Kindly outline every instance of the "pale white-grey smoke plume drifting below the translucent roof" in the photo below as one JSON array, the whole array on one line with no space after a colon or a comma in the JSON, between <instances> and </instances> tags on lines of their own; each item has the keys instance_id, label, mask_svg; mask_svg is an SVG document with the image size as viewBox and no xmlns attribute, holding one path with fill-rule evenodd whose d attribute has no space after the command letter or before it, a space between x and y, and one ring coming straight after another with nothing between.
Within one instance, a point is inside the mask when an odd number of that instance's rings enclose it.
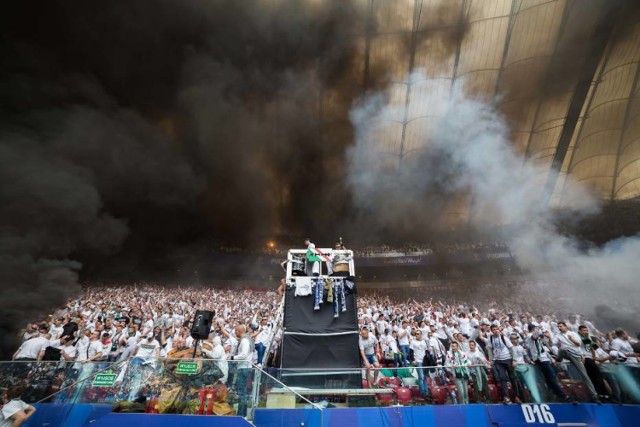
<instances>
[{"instance_id":1,"label":"pale white-grey smoke plume drifting below the translucent roof","mask_svg":"<svg viewBox=\"0 0 640 427\"><path fill-rule=\"evenodd\" d=\"M518 264L536 277L566 285L572 308L586 311L612 299L637 303L640 238L581 249L581 242L561 235L554 225L556 212L542 194L548 166L525 161L513 149L507 122L492 105L468 96L464 84L443 90L442 83L420 72L409 82L411 104L417 107L408 113L393 87L352 110L356 141L348 152L348 185L359 209L383 227L397 226L416 212L433 216L424 221L438 221L447 213L442 206L434 209L434 200L466 194L475 227L503 224L508 233L501 238ZM401 147L406 122L410 137ZM569 180L563 200L563 208L575 216L598 210L588 189Z\"/></svg>"}]
</instances>

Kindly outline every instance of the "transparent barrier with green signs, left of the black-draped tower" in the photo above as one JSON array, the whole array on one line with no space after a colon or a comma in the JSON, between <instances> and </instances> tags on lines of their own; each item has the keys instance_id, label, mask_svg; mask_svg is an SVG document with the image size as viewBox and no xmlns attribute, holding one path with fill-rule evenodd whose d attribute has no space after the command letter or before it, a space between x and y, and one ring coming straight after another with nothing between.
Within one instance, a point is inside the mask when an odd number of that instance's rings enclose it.
<instances>
[{"instance_id":1,"label":"transparent barrier with green signs, left of the black-draped tower","mask_svg":"<svg viewBox=\"0 0 640 427\"><path fill-rule=\"evenodd\" d=\"M107 413L252 419L257 406L266 406L272 388L286 390L311 410L309 417L321 418L311 401L248 362L1 362L0 387L22 387L21 398L37 405L30 425L88 425Z\"/></svg>"}]
</instances>

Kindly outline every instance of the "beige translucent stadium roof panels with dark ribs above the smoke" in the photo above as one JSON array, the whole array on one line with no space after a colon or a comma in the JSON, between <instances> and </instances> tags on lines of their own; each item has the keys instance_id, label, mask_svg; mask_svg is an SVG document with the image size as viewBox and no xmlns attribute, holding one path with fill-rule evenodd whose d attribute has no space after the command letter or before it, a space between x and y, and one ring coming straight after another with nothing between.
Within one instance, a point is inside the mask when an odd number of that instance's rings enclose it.
<instances>
[{"instance_id":1,"label":"beige translucent stadium roof panels with dark ribs above the smoke","mask_svg":"<svg viewBox=\"0 0 640 427\"><path fill-rule=\"evenodd\" d=\"M505 115L526 161L550 172L562 200L566 176L603 200L640 196L640 20L633 1L362 0L362 79L384 67L406 120L384 136L410 155L424 105L412 104L410 70L429 90L465 90ZM413 88L420 90L420 88ZM402 152L400 152L402 151Z\"/></svg>"}]
</instances>

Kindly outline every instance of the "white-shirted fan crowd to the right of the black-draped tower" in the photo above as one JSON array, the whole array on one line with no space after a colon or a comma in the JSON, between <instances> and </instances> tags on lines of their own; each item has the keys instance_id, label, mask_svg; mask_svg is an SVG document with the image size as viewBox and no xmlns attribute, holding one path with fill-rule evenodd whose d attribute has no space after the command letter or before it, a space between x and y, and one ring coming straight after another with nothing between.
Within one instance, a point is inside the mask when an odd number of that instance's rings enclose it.
<instances>
[{"instance_id":1,"label":"white-shirted fan crowd to the right of the black-draped tower","mask_svg":"<svg viewBox=\"0 0 640 427\"><path fill-rule=\"evenodd\" d=\"M482 397L492 376L505 403L511 401L510 386L517 401L539 402L539 387L530 370L534 367L558 400L571 401L558 381L556 364L562 360L567 362L562 366L585 385L591 401L621 401L623 395L624 400L640 399L640 348L622 328L602 332L580 315L560 316L541 311L540 305L527 304L525 309L508 302L490 301L479 309L428 298L397 302L374 294L361 296L359 306L365 366L425 367L416 371L420 393L427 400L432 398L429 375L446 383L444 371L435 367L449 366L462 403L469 403L470 381L476 396ZM612 370L613 365L632 369ZM619 378L620 373L626 377ZM375 380L374 372L372 383Z\"/></svg>"}]
</instances>

